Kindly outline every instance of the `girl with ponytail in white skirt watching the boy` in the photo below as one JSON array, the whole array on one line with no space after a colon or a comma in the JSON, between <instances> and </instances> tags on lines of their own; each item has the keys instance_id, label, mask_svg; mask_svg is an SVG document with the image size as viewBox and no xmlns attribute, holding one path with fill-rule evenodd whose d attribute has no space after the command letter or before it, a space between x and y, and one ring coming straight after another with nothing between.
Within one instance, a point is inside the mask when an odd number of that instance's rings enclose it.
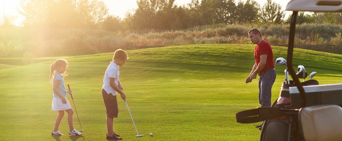
<instances>
[{"instance_id":1,"label":"girl with ponytail in white skirt watching the boy","mask_svg":"<svg viewBox=\"0 0 342 141\"><path fill-rule=\"evenodd\" d=\"M51 64L51 71L50 71L50 83L53 86L53 99L52 99L52 111L58 111L58 116L55 122L55 128L52 131L52 136L63 135L60 131L58 131L58 126L62 121L64 116L64 111L68 113L68 123L69 123L69 135L79 136L82 135L81 132L74 129L73 126L73 109L71 109L71 105L66 99L66 94L73 94L72 90L65 90L65 84L63 77L66 76L66 68L68 62L64 59L57 59L54 63ZM64 76L63 76L63 75Z\"/></svg>"}]
</instances>

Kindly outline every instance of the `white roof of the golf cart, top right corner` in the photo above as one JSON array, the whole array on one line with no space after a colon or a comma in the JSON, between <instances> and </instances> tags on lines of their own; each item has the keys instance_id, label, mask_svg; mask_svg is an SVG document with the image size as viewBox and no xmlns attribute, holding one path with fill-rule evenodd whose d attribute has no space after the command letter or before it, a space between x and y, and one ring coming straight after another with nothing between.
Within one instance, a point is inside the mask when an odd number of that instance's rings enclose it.
<instances>
[{"instance_id":1,"label":"white roof of the golf cart, top right corner","mask_svg":"<svg viewBox=\"0 0 342 141\"><path fill-rule=\"evenodd\" d=\"M290 0L285 10L309 12L342 12L342 0Z\"/></svg>"}]
</instances>

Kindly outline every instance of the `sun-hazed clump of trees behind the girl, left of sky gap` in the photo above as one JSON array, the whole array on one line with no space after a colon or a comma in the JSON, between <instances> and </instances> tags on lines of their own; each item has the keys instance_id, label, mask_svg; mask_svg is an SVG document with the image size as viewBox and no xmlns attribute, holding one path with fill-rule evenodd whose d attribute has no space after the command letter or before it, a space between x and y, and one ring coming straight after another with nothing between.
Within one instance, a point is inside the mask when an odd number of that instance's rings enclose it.
<instances>
[{"instance_id":1,"label":"sun-hazed clump of trees behind the girl, left of sky gap","mask_svg":"<svg viewBox=\"0 0 342 141\"><path fill-rule=\"evenodd\" d=\"M26 25L50 28L77 28L96 25L105 19L108 8L98 0L22 0L19 13Z\"/></svg>"}]
</instances>

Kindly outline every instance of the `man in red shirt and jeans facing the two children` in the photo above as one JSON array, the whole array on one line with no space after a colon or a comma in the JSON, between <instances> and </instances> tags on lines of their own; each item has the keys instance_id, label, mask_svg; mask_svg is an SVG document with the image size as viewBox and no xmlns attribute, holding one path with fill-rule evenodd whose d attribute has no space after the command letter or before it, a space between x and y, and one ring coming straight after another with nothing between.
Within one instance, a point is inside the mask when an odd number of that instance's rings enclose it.
<instances>
[{"instance_id":1,"label":"man in red shirt and jeans facing the two children","mask_svg":"<svg viewBox=\"0 0 342 141\"><path fill-rule=\"evenodd\" d=\"M250 30L248 37L257 45L254 49L255 64L245 83L252 82L259 74L259 103L261 107L271 107L271 91L277 75L274 69L273 51L271 45L262 39L258 29ZM255 127L261 130L262 124Z\"/></svg>"}]
</instances>

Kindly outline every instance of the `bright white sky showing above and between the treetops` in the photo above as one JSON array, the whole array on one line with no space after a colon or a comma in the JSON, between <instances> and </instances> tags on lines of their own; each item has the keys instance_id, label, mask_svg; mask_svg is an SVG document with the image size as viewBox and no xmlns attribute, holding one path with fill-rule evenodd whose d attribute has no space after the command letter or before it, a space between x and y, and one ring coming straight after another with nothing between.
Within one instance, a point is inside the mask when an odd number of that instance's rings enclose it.
<instances>
[{"instance_id":1,"label":"bright white sky showing above and between the treetops","mask_svg":"<svg viewBox=\"0 0 342 141\"><path fill-rule=\"evenodd\" d=\"M21 16L17 9L20 8L19 3L21 0L0 0L0 18L3 19L3 16L10 16L15 18L14 25L20 26L24 20L24 17ZM136 0L100 0L104 1L107 5L109 11L109 15L119 16L120 18L124 18L127 11L133 11L133 9L137 8ZM175 0L176 5L184 5L189 3L191 0ZM246 0L242 0L246 1ZM261 6L264 5L266 0L255 0ZM289 0L273 0L274 2L280 4L282 9L285 10L285 7ZM237 0L236 0L237 2ZM287 18L291 12L287 11L285 18Z\"/></svg>"}]
</instances>

